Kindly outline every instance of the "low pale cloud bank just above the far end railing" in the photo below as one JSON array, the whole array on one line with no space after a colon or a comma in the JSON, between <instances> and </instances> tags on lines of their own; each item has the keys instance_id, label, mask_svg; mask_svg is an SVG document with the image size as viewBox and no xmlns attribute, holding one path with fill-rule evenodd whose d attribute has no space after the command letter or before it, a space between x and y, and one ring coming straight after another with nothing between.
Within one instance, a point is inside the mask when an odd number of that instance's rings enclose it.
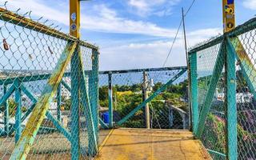
<instances>
[{"instance_id":1,"label":"low pale cloud bank just above the far end railing","mask_svg":"<svg viewBox=\"0 0 256 160\"><path fill-rule=\"evenodd\" d=\"M188 47L203 42L221 33L220 28L190 31L187 34ZM100 70L162 67L172 42L154 41L110 46L101 50ZM111 64L111 65L110 65ZM174 43L174 48L166 66L186 66L186 55L182 35Z\"/></svg>"}]
</instances>

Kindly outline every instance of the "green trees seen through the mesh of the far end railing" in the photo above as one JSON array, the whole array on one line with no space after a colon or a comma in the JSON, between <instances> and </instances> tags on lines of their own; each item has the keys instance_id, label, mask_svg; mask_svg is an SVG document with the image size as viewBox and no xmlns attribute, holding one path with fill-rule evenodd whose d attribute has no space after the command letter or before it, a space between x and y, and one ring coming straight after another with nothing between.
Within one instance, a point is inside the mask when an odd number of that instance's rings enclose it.
<instances>
[{"instance_id":1,"label":"green trees seen through the mesh of the far end railing","mask_svg":"<svg viewBox=\"0 0 256 160\"><path fill-rule=\"evenodd\" d=\"M154 91L158 90L162 85L161 82L155 83L153 91L150 94L153 94ZM114 110L120 118L129 114L131 110L134 110L135 107L142 103L142 84L134 84L131 86L115 85L112 90L114 96ZM162 91L161 94L154 98L151 102L152 106L150 106L151 110L156 110L152 124L154 127L159 127L159 125L161 128L167 127L166 122L168 122L169 110L164 106L162 100L167 100L174 106L182 107L183 110L186 109L187 104L181 100L181 98L186 97L186 90L187 81L168 86L166 90ZM108 86L99 87L99 104L102 107L108 107ZM129 118L122 126L144 128L144 117L144 109L138 110L138 112ZM160 121L157 123L156 119ZM182 120L178 119L178 121Z\"/></svg>"}]
</instances>

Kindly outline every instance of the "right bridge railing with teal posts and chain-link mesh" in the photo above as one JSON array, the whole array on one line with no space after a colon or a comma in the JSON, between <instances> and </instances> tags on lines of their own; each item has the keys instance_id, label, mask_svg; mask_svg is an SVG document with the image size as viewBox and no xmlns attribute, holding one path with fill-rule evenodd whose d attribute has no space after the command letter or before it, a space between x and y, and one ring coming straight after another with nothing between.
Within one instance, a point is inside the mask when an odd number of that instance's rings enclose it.
<instances>
[{"instance_id":1,"label":"right bridge railing with teal posts and chain-link mesh","mask_svg":"<svg viewBox=\"0 0 256 160\"><path fill-rule=\"evenodd\" d=\"M194 134L214 159L256 158L256 18L189 52Z\"/></svg>"}]
</instances>

